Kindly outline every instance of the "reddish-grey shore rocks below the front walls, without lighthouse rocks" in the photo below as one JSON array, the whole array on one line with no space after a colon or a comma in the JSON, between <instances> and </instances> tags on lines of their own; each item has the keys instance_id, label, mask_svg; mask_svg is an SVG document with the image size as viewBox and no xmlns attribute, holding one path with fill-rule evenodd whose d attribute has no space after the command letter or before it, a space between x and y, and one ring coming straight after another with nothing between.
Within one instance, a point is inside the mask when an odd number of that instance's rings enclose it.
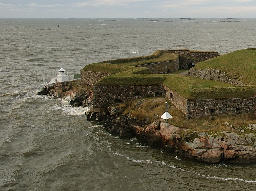
<instances>
[{"instance_id":1,"label":"reddish-grey shore rocks below the front walls, without lighthouse rocks","mask_svg":"<svg viewBox=\"0 0 256 191\"><path fill-rule=\"evenodd\" d=\"M236 132L199 133L169 125L165 121L139 121L123 116L122 108L108 107L106 111L90 111L88 121L102 124L107 131L120 138L135 136L140 143L152 148L160 147L184 158L209 164L249 165L256 163L256 134L240 135ZM251 129L256 128L252 124Z\"/></svg>"}]
</instances>

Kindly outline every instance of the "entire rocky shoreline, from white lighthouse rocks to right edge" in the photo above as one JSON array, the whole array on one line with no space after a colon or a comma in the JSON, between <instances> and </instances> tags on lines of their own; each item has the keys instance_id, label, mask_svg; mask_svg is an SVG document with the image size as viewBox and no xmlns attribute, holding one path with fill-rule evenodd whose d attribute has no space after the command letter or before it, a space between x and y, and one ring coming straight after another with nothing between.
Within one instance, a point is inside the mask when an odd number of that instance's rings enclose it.
<instances>
[{"instance_id":1,"label":"entire rocky shoreline, from white lighthouse rocks to right edge","mask_svg":"<svg viewBox=\"0 0 256 191\"><path fill-rule=\"evenodd\" d=\"M42 88L39 95L49 98L70 96L72 107L93 105L93 90L82 87L79 81L49 84ZM124 115L124 108L92 108L87 113L87 120L103 125L106 130L120 138L136 137L137 141L152 148L163 148L166 152L179 157L190 158L209 164L225 162L227 164L249 165L256 163L256 124L244 129L235 129L228 123L230 131L197 133L186 128L169 125L166 121L150 122L138 120L129 114ZM239 131L239 132L234 132ZM242 133L241 133L242 132Z\"/></svg>"}]
</instances>

